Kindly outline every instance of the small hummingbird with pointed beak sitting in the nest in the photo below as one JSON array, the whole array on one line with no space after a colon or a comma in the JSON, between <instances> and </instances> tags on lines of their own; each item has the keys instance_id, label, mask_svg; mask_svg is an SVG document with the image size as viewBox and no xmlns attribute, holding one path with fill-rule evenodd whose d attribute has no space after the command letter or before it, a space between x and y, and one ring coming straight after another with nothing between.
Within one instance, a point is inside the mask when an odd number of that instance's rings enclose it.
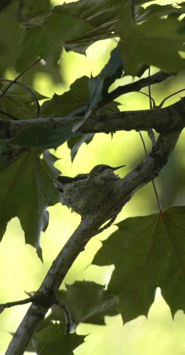
<instances>
[{"instance_id":1,"label":"small hummingbird with pointed beak sitting in the nest","mask_svg":"<svg viewBox=\"0 0 185 355\"><path fill-rule=\"evenodd\" d=\"M66 184L72 184L74 182L77 182L79 180L84 180L87 179L88 177L90 178L94 178L95 176L100 176L103 175L107 172L112 172L114 173L115 170L120 169L125 167L126 165L121 165L119 167L113 168L110 167L109 165L104 165L104 164L100 164L100 165L96 165L89 173L87 174L78 174L75 177L69 177L69 176L58 176L55 180L54 180L54 185L56 186L57 190L60 192L63 192L63 185Z\"/></svg>"}]
</instances>

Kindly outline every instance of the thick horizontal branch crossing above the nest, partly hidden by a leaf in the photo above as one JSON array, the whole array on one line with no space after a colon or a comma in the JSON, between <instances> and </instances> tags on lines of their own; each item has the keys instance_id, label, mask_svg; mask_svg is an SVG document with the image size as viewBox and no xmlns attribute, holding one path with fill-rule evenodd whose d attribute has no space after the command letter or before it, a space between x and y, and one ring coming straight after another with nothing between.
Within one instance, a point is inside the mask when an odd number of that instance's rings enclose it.
<instances>
[{"instance_id":1,"label":"thick horizontal branch crossing above the nest, partly hidden by a leaf","mask_svg":"<svg viewBox=\"0 0 185 355\"><path fill-rule=\"evenodd\" d=\"M39 125L50 130L67 127L77 118L37 118L23 121L0 121L0 139L13 138L22 128ZM123 111L90 116L74 135L115 131L146 131L153 128L165 133L185 127L185 98L165 108Z\"/></svg>"}]
</instances>

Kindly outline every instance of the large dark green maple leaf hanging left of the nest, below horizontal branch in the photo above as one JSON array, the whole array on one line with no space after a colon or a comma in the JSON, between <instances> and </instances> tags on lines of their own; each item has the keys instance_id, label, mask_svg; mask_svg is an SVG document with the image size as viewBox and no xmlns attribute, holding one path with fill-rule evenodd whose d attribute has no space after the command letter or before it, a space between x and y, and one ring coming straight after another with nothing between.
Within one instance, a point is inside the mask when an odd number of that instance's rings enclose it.
<instances>
[{"instance_id":1,"label":"large dark green maple leaf hanging left of the nest, below horizontal branch","mask_svg":"<svg viewBox=\"0 0 185 355\"><path fill-rule=\"evenodd\" d=\"M0 240L7 223L18 217L26 243L36 248L42 260L40 233L48 226L47 207L60 201L53 184L60 171L53 166L54 155L45 151L41 159L39 154L31 150L0 169Z\"/></svg>"}]
</instances>

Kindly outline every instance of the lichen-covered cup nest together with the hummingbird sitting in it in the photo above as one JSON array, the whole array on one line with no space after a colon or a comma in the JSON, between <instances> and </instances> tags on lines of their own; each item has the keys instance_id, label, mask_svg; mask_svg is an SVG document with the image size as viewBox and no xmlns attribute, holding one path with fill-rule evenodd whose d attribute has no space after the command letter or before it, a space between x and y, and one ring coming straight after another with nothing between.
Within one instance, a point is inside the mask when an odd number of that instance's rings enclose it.
<instances>
[{"instance_id":1,"label":"lichen-covered cup nest together with the hummingbird sitting in it","mask_svg":"<svg viewBox=\"0 0 185 355\"><path fill-rule=\"evenodd\" d=\"M98 213L100 209L107 209L114 196L115 183L120 180L114 171L124 166L112 168L102 164L88 174L79 174L74 178L58 176L54 185L60 191L62 204L66 204L82 218ZM107 213L107 216L112 216L115 212L110 208Z\"/></svg>"}]
</instances>

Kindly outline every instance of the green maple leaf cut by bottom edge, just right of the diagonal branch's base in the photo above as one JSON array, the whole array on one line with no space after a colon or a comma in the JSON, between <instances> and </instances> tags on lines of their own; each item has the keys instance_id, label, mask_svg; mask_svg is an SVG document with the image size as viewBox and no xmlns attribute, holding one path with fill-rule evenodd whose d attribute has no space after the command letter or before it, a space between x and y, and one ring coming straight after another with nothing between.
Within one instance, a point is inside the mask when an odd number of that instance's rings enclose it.
<instances>
[{"instance_id":1,"label":"green maple leaf cut by bottom edge, just right of the diagonal branch's base","mask_svg":"<svg viewBox=\"0 0 185 355\"><path fill-rule=\"evenodd\" d=\"M33 346L38 355L74 355L73 350L83 344L85 336L64 335L57 323L34 335Z\"/></svg>"}]
</instances>

